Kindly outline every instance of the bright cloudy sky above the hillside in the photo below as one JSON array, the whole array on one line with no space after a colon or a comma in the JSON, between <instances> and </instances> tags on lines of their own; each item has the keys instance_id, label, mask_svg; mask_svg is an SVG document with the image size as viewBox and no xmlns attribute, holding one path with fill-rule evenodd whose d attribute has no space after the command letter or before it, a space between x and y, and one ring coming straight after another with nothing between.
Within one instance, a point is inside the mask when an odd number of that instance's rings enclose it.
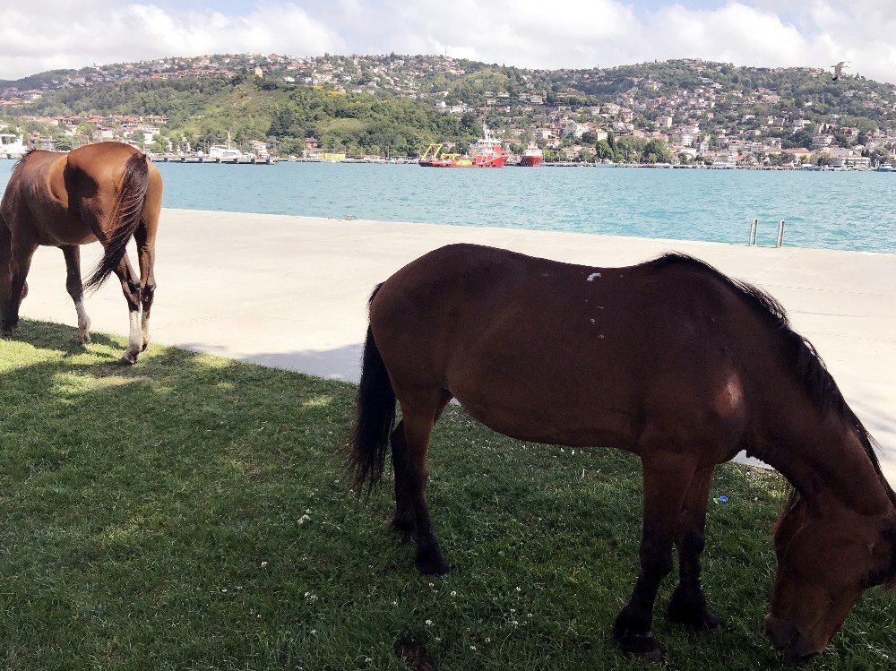
<instances>
[{"instance_id":1,"label":"bright cloudy sky above the hillside","mask_svg":"<svg viewBox=\"0 0 896 671\"><path fill-rule=\"evenodd\" d=\"M534 68L695 57L896 83L896 0L28 0L0 79L212 53L447 54Z\"/></svg>"}]
</instances>

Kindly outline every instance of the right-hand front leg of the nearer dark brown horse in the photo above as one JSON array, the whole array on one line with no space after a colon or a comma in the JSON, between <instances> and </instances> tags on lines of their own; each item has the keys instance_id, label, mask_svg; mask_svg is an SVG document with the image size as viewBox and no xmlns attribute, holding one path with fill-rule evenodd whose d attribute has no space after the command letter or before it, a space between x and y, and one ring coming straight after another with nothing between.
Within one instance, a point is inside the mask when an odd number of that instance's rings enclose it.
<instances>
[{"instance_id":1,"label":"right-hand front leg of the nearer dark brown horse","mask_svg":"<svg viewBox=\"0 0 896 671\"><path fill-rule=\"evenodd\" d=\"M706 606L700 582L700 554L703 551L706 504L714 466L698 470L685 497L676 534L678 548L678 586L669 599L669 620L695 632L719 629L719 618Z\"/></svg>"}]
</instances>

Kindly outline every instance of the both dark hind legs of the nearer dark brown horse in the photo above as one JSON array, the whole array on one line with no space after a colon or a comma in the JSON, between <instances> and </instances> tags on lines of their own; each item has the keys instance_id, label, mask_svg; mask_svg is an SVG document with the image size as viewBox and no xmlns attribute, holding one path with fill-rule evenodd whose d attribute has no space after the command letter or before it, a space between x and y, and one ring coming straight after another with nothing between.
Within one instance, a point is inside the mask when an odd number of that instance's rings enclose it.
<instances>
[{"instance_id":1,"label":"both dark hind legs of the nearer dark brown horse","mask_svg":"<svg viewBox=\"0 0 896 671\"><path fill-rule=\"evenodd\" d=\"M444 390L435 391L432 395L427 393L422 402L420 399L400 397L403 442L397 440L392 443L393 449L398 445L401 453L398 458L393 456L393 463L399 464L395 470L397 519L407 520L408 507L413 510L417 532L416 563L424 575L444 575L448 572L448 564L435 538L429 505L426 503L426 452L435 419L451 398L449 395L445 399L445 393Z\"/></svg>"}]
</instances>

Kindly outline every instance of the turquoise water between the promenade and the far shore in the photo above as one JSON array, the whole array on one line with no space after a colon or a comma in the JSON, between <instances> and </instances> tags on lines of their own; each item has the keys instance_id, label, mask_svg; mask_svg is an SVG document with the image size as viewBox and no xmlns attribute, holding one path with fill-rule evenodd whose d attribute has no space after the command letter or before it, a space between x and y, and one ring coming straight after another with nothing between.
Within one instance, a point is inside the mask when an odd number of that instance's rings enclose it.
<instances>
[{"instance_id":1,"label":"turquoise water between the promenade and the far shore","mask_svg":"<svg viewBox=\"0 0 896 671\"><path fill-rule=\"evenodd\" d=\"M159 163L165 206L896 253L896 174ZM0 185L13 161L0 160Z\"/></svg>"}]
</instances>

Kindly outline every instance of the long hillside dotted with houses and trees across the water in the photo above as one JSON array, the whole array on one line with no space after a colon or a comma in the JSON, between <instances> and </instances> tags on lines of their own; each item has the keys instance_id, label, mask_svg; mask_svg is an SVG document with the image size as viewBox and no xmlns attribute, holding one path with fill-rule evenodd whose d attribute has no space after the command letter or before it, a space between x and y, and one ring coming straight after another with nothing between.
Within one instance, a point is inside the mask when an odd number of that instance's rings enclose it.
<instances>
[{"instance_id":1,"label":"long hillside dotted with houses and trees across the water","mask_svg":"<svg viewBox=\"0 0 896 671\"><path fill-rule=\"evenodd\" d=\"M656 140L682 159L829 147L883 159L896 147L890 84L696 59L545 71L446 56L219 55L54 71L0 89L13 120L167 116L163 139L229 132L284 151L306 137L354 153L413 155L436 140L462 149L482 120L516 146L599 157L599 142L628 135L638 152Z\"/></svg>"}]
</instances>

